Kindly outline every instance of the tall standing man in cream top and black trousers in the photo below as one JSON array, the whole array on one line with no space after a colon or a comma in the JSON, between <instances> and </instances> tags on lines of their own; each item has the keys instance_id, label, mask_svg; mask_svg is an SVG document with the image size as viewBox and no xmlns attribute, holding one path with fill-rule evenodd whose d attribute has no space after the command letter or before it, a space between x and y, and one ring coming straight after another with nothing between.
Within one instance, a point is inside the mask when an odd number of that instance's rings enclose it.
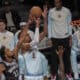
<instances>
[{"instance_id":1,"label":"tall standing man in cream top and black trousers","mask_svg":"<svg viewBox=\"0 0 80 80\"><path fill-rule=\"evenodd\" d=\"M52 40L52 64L51 74L52 80L56 79L58 70L58 55L56 49L58 46L65 48L63 61L65 73L68 80L71 80L71 65L70 65L70 49L71 49L71 12L68 8L62 6L62 0L54 0L55 7L49 10L48 15L48 37Z\"/></svg>"}]
</instances>

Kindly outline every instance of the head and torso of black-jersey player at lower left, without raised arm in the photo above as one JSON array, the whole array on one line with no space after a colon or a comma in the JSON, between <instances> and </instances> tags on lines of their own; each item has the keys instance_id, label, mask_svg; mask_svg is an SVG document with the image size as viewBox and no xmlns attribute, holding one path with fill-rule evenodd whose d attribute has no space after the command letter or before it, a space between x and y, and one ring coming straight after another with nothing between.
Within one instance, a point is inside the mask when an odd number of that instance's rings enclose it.
<instances>
[{"instance_id":1,"label":"head and torso of black-jersey player at lower left, without raised arm","mask_svg":"<svg viewBox=\"0 0 80 80\"><path fill-rule=\"evenodd\" d=\"M13 58L14 56L10 49L6 47L1 47L0 56L2 58L2 63L5 67L5 72L3 74L6 80L18 80L18 63L16 59Z\"/></svg>"}]
</instances>

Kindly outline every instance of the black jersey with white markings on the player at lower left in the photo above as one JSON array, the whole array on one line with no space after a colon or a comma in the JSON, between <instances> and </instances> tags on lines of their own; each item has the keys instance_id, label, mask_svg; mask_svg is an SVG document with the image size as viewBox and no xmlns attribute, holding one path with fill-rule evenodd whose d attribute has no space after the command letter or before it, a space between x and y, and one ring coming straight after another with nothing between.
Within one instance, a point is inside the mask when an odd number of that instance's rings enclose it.
<instances>
[{"instance_id":1,"label":"black jersey with white markings on the player at lower left","mask_svg":"<svg viewBox=\"0 0 80 80\"><path fill-rule=\"evenodd\" d=\"M11 63L3 61L6 66L5 77L6 80L18 80L19 70L18 63L16 60L13 60Z\"/></svg>"}]
</instances>

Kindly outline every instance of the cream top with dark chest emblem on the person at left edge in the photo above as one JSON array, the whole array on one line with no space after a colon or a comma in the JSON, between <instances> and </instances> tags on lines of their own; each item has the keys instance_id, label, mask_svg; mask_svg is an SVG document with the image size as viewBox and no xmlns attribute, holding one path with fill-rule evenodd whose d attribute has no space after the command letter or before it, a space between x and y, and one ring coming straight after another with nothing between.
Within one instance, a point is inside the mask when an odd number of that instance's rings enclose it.
<instances>
[{"instance_id":1,"label":"cream top with dark chest emblem on the person at left edge","mask_svg":"<svg viewBox=\"0 0 80 80\"><path fill-rule=\"evenodd\" d=\"M5 46L11 50L14 49L14 35L9 31L0 32L0 47Z\"/></svg>"}]
</instances>

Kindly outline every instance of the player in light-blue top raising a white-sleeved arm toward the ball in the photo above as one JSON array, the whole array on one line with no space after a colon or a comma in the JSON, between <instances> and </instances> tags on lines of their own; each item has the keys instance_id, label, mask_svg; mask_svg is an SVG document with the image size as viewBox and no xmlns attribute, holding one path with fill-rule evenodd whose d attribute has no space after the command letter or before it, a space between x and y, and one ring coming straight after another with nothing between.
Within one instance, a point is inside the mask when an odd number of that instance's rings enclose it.
<instances>
[{"instance_id":1,"label":"player in light-blue top raising a white-sleeved arm toward the ball","mask_svg":"<svg viewBox=\"0 0 80 80\"><path fill-rule=\"evenodd\" d=\"M20 79L24 75L24 80L44 80L47 76L47 60L37 49L37 44L41 40L39 38L40 19L37 18L34 21L36 22L34 40L31 41L30 35L27 34L21 47L21 54L18 55ZM22 36L24 35L20 37Z\"/></svg>"}]
</instances>

